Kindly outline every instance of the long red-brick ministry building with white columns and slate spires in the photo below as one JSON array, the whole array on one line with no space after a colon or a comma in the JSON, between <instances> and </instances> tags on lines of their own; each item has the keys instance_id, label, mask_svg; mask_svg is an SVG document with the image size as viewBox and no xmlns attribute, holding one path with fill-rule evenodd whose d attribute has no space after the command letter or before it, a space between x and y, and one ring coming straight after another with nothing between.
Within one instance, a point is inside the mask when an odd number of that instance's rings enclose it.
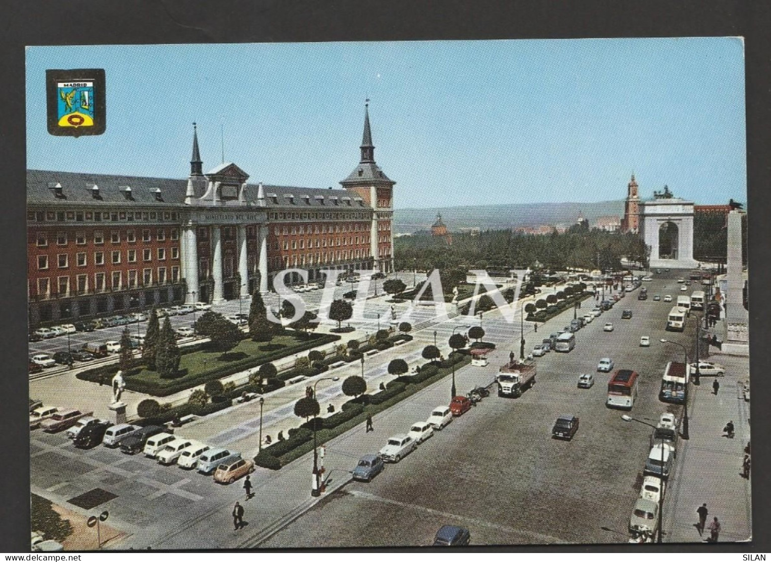
<instances>
[{"instance_id":1,"label":"long red-brick ministry building with white columns and slate spires","mask_svg":"<svg viewBox=\"0 0 771 562\"><path fill-rule=\"evenodd\" d=\"M28 170L30 324L237 299L289 268L392 271L395 182L366 106L360 151L342 189L254 185L232 162L204 173L195 129L188 179Z\"/></svg>"}]
</instances>

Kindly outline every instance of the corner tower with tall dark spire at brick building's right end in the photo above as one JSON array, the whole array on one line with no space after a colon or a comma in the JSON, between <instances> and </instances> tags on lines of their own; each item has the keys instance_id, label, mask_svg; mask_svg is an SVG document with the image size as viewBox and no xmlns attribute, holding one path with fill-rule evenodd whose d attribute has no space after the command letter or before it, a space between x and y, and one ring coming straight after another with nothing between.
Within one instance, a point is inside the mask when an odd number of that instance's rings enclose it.
<instances>
[{"instance_id":1,"label":"corner tower with tall dark spire at brick building's right end","mask_svg":"<svg viewBox=\"0 0 771 562\"><path fill-rule=\"evenodd\" d=\"M385 176L375 162L375 145L372 144L372 128L369 125L369 99L364 105L364 134L359 165L340 184L360 197L372 208L369 232L372 268L379 271L393 270L393 186L396 182Z\"/></svg>"}]
</instances>

